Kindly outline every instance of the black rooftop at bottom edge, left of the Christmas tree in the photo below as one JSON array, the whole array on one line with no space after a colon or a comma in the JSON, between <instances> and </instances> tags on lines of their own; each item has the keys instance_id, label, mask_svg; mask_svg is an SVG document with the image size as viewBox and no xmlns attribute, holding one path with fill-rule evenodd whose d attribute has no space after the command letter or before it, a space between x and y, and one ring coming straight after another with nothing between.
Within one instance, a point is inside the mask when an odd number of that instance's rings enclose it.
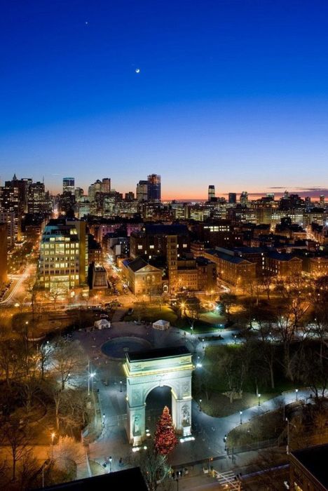
<instances>
[{"instance_id":1,"label":"black rooftop at bottom edge, left of the Christmas tree","mask_svg":"<svg viewBox=\"0 0 328 491\"><path fill-rule=\"evenodd\" d=\"M126 469L125 471L111 472L93 478L72 480L69 483L56 484L54 486L43 487L42 489L67 491L114 491L133 489L137 491L148 491L139 467Z\"/></svg>"}]
</instances>

